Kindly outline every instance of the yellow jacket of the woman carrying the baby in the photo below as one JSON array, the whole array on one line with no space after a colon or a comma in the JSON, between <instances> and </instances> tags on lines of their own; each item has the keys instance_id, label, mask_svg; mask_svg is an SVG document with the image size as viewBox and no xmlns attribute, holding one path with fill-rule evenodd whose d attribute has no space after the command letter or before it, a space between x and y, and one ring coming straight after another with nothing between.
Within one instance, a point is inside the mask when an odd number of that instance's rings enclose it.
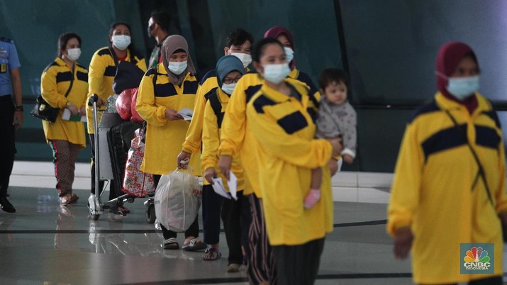
<instances>
[{"instance_id":1,"label":"yellow jacket of the woman carrying the baby","mask_svg":"<svg viewBox=\"0 0 507 285\"><path fill-rule=\"evenodd\" d=\"M314 139L316 125L308 109L317 108L308 88L285 80L301 101L262 85L247 104L247 121L258 148L258 169L267 235L271 245L302 245L333 230L333 197L327 162L333 148ZM323 168L321 201L309 210L303 201L310 190L311 169Z\"/></svg>"}]
</instances>

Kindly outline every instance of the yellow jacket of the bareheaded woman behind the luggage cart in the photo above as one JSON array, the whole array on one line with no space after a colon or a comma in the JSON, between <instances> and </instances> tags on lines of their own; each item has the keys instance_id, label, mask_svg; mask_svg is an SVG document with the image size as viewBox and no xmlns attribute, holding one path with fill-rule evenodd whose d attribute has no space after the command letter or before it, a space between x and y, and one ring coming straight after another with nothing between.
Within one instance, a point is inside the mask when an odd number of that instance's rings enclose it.
<instances>
[{"instance_id":1,"label":"yellow jacket of the bareheaded woman behind the luggage cart","mask_svg":"<svg viewBox=\"0 0 507 285\"><path fill-rule=\"evenodd\" d=\"M143 72L146 72L146 62L144 57L140 55L131 55L130 50L127 50L126 61L132 62L137 65ZM91 57L89 67L89 89L88 98L92 94L99 95L99 98L107 103L109 96L114 94L113 91L113 80L116 74L116 65L114 64L113 55L109 52L108 47L102 47L97 50ZM106 105L99 108L99 110L105 110ZM99 121L102 118L102 113L98 113ZM94 133L94 121L91 107L87 104L87 125L88 133Z\"/></svg>"}]
</instances>

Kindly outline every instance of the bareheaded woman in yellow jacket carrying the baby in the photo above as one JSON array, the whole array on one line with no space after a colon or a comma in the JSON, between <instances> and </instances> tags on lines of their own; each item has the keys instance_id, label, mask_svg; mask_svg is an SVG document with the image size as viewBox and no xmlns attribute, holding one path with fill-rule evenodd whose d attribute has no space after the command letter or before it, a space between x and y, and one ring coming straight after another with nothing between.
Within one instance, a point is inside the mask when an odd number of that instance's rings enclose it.
<instances>
[{"instance_id":1,"label":"bareheaded woman in yellow jacket carrying the baby","mask_svg":"<svg viewBox=\"0 0 507 285\"><path fill-rule=\"evenodd\" d=\"M314 139L316 106L306 85L286 80L290 69L278 40L261 40L252 59L264 83L246 112L258 144L262 207L277 284L313 284L325 235L333 230L329 171L323 172L321 201L306 210L303 200L311 168L327 165L340 155L341 146L338 139Z\"/></svg>"}]
</instances>

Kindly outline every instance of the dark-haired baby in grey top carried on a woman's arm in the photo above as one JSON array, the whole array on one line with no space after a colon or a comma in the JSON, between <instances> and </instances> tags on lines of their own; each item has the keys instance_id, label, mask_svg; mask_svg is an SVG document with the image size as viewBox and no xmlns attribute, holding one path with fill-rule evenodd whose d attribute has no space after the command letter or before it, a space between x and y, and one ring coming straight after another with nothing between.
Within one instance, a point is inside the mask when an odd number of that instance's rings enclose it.
<instances>
[{"instance_id":1,"label":"dark-haired baby in grey top carried on a woman's arm","mask_svg":"<svg viewBox=\"0 0 507 285\"><path fill-rule=\"evenodd\" d=\"M341 69L329 68L318 78L321 106L318 109L317 138L342 138L342 158L352 164L356 150L356 113L347 102L348 77ZM321 199L322 169L311 172L311 189L304 201L305 208L313 207Z\"/></svg>"}]
</instances>

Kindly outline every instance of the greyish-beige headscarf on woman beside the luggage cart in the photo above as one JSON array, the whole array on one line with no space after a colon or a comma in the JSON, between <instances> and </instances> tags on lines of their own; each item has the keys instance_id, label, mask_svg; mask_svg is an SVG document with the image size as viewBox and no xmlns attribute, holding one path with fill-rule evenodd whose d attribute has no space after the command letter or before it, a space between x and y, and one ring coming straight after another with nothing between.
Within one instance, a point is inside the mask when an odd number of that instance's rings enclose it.
<instances>
[{"instance_id":1,"label":"greyish-beige headscarf on woman beside the luggage cart","mask_svg":"<svg viewBox=\"0 0 507 285\"><path fill-rule=\"evenodd\" d=\"M186 62L186 70L179 75L173 74L169 71L169 58L177 50L184 50L188 58ZM162 65L164 65L165 70L167 71L167 76L174 85L179 86L182 84L186 77L186 72L190 72L191 75L196 74L194 62L192 62L189 54L189 44L186 43L186 40L182 35L169 35L169 37L164 40L164 43L162 43Z\"/></svg>"}]
</instances>

